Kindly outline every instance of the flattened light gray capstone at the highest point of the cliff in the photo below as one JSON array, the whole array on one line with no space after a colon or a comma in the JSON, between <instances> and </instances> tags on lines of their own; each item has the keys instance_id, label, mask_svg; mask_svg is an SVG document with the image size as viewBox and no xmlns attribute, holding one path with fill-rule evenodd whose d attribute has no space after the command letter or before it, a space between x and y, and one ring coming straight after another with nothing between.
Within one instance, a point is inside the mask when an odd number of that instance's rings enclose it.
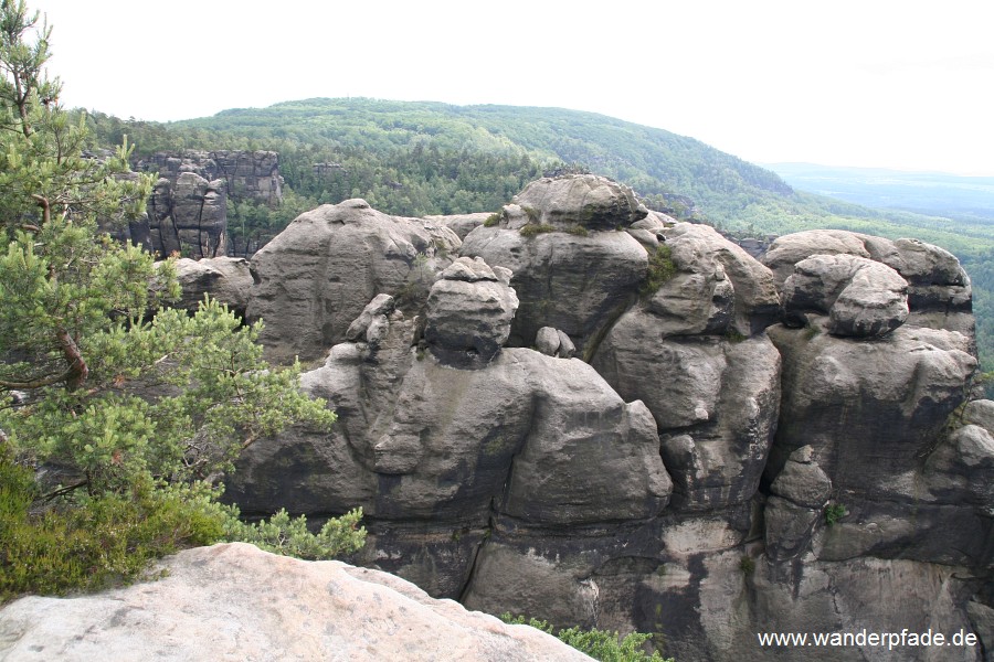
<instances>
[{"instance_id":1,"label":"flattened light gray capstone at the highest point of the cliff","mask_svg":"<svg viewBox=\"0 0 994 662\"><path fill-rule=\"evenodd\" d=\"M538 222L616 229L648 215L632 189L595 174L565 174L531 182L511 201L537 212Z\"/></svg>"}]
</instances>

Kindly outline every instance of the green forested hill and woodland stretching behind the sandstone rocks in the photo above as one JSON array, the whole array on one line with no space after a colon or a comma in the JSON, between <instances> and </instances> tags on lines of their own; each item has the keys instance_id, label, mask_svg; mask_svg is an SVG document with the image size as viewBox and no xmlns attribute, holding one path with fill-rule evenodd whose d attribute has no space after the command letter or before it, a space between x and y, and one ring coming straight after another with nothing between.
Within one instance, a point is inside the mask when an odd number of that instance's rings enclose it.
<instances>
[{"instance_id":1,"label":"green forested hill and woodland stretching behind the sandstone rocks","mask_svg":"<svg viewBox=\"0 0 994 662\"><path fill-rule=\"evenodd\" d=\"M124 136L140 159L161 150L279 153L285 199L232 197L234 246L265 242L298 213L364 197L398 215L493 212L542 174L590 171L631 185L653 209L740 236L832 227L918 237L954 253L973 279L977 340L994 370L994 218L877 210L795 191L770 170L675 134L558 108L307 99L158 124L99 113L94 146Z\"/></svg>"}]
</instances>

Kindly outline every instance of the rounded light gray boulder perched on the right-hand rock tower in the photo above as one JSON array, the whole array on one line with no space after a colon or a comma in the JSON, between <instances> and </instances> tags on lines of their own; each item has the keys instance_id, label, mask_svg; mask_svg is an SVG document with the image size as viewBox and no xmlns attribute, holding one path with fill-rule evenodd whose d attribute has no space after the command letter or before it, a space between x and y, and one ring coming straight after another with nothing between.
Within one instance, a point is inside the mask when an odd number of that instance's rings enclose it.
<instances>
[{"instance_id":1,"label":"rounded light gray boulder perched on the right-hand rock tower","mask_svg":"<svg viewBox=\"0 0 994 662\"><path fill-rule=\"evenodd\" d=\"M890 333L908 319L908 284L890 267L852 255L815 255L783 284L786 323L828 314L828 332L854 338Z\"/></svg>"}]
</instances>

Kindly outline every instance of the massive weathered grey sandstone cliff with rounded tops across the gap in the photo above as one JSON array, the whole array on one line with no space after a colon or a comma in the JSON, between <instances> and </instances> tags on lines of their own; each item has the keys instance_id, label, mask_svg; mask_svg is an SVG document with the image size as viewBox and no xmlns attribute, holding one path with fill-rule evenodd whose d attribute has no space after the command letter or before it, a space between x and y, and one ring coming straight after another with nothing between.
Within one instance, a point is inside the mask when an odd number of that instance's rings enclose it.
<instances>
[{"instance_id":1,"label":"massive weathered grey sandstone cliff with rounded tops across the gap","mask_svg":"<svg viewBox=\"0 0 994 662\"><path fill-rule=\"evenodd\" d=\"M250 317L326 355L303 384L340 419L250 447L243 511L362 505L367 565L681 662L864 627L984 639L779 654L992 650L994 403L951 255L826 231L762 264L592 175L442 221L347 201L256 255Z\"/></svg>"}]
</instances>

